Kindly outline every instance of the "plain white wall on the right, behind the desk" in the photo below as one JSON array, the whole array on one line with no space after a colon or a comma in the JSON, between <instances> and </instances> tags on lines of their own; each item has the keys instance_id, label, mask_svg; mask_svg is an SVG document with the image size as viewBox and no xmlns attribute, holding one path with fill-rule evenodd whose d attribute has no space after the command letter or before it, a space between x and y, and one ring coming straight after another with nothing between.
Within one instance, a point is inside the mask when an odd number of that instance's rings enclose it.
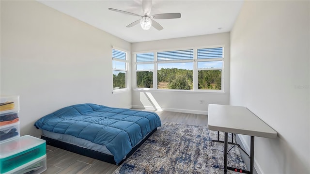
<instances>
[{"instance_id":1,"label":"plain white wall on the right, behind the desk","mask_svg":"<svg viewBox=\"0 0 310 174\"><path fill-rule=\"evenodd\" d=\"M231 32L230 104L278 132L255 138L259 174L310 173L309 9L310 1L245 1Z\"/></svg>"}]
</instances>

